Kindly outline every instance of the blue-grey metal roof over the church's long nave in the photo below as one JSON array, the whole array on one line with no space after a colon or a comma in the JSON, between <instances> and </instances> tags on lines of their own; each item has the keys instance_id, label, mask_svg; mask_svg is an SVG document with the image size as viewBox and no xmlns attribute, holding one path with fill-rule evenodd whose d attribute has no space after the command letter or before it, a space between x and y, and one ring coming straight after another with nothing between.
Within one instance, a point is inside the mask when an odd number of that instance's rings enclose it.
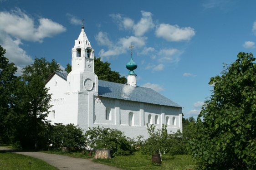
<instances>
[{"instance_id":1,"label":"blue-grey metal roof over the church's long nave","mask_svg":"<svg viewBox=\"0 0 256 170\"><path fill-rule=\"evenodd\" d=\"M98 80L98 95L134 102L181 107L158 92L146 87L132 87L126 84Z\"/></svg>"}]
</instances>

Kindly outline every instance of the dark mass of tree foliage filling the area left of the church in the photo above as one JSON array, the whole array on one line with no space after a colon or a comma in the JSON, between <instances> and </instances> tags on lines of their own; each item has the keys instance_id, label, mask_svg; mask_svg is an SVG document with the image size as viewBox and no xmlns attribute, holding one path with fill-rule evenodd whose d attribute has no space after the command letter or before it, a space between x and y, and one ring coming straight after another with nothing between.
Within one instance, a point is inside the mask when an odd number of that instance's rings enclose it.
<instances>
[{"instance_id":1,"label":"dark mass of tree foliage filling the area left of the church","mask_svg":"<svg viewBox=\"0 0 256 170\"><path fill-rule=\"evenodd\" d=\"M44 82L53 71L61 71L60 65L36 58L23 68L21 77L15 77L17 68L4 54L0 46L0 142L22 148L46 147L51 95Z\"/></svg>"}]
</instances>

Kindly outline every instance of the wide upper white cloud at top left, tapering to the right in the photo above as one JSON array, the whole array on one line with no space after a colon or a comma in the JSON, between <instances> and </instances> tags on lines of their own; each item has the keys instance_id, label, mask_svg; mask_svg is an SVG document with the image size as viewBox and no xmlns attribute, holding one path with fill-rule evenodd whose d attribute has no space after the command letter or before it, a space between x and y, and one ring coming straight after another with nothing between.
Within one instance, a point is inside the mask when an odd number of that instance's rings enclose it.
<instances>
[{"instance_id":1,"label":"wide upper white cloud at top left, tapering to the right","mask_svg":"<svg viewBox=\"0 0 256 170\"><path fill-rule=\"evenodd\" d=\"M39 19L36 27L34 20L18 8L10 12L0 12L0 32L10 34L16 39L42 42L44 38L64 31L66 28L61 24L46 18Z\"/></svg>"}]
</instances>

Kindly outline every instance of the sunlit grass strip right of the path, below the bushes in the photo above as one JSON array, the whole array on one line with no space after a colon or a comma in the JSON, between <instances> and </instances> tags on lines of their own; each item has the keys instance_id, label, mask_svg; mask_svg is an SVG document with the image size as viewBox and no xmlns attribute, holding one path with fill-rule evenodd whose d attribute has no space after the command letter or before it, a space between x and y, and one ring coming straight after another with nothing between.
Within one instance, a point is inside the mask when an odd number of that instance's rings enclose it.
<instances>
[{"instance_id":1,"label":"sunlit grass strip right of the path, below the bushes","mask_svg":"<svg viewBox=\"0 0 256 170\"><path fill-rule=\"evenodd\" d=\"M130 156L115 156L112 159L93 161L124 170L195 170L195 162L190 155L162 155L162 164L153 164L150 155L142 155L140 152Z\"/></svg>"}]
</instances>

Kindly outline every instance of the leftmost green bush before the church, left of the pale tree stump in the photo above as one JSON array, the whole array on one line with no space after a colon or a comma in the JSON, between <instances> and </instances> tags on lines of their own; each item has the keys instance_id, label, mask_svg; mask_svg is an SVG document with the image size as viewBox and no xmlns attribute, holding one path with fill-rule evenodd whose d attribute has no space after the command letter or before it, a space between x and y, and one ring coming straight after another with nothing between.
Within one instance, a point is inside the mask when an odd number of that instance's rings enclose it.
<instances>
[{"instance_id":1,"label":"leftmost green bush before the church, left of the pale tree stump","mask_svg":"<svg viewBox=\"0 0 256 170\"><path fill-rule=\"evenodd\" d=\"M55 149L61 149L62 146L81 149L85 146L85 138L78 126L55 123L51 126L50 143Z\"/></svg>"}]
</instances>

